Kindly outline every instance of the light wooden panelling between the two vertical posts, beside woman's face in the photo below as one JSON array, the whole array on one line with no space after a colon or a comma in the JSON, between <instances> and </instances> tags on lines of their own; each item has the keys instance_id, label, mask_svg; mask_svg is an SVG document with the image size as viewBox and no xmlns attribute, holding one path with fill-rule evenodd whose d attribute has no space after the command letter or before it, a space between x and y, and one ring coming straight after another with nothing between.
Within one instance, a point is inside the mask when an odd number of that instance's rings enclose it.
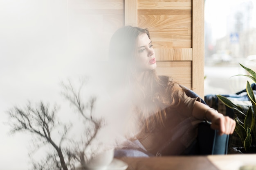
<instances>
[{"instance_id":1,"label":"light wooden panelling between the two vertical posts, beside woman's face","mask_svg":"<svg viewBox=\"0 0 256 170\"><path fill-rule=\"evenodd\" d=\"M157 74L192 88L191 0L137 0L138 26L148 28L157 58Z\"/></svg>"}]
</instances>

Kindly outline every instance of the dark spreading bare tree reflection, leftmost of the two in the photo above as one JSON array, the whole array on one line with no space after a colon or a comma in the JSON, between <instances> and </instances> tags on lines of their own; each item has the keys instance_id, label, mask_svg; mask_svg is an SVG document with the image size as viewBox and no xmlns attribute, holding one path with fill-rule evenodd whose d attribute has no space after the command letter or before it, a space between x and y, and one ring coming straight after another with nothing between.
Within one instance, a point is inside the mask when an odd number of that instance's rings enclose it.
<instances>
[{"instance_id":1,"label":"dark spreading bare tree reflection, leftmost of the two","mask_svg":"<svg viewBox=\"0 0 256 170\"><path fill-rule=\"evenodd\" d=\"M61 140L57 143L52 139L52 132L60 125L56 120L57 108L49 109L49 105L45 105L40 102L39 105L33 107L31 103L24 109L20 107L14 107L9 110L11 133L16 132L29 132L36 135L39 142L43 144L50 144L54 147L58 154L59 161L63 170L68 170L61 144L67 135L70 126L63 125L63 134Z\"/></svg>"}]
</instances>

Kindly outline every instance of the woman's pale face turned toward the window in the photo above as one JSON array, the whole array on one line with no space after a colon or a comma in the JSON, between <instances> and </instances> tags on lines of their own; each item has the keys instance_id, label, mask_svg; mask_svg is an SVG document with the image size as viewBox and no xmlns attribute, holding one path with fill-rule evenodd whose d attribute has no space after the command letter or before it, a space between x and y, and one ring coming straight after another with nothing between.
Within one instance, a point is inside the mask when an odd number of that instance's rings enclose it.
<instances>
[{"instance_id":1,"label":"woman's pale face turned toward the window","mask_svg":"<svg viewBox=\"0 0 256 170\"><path fill-rule=\"evenodd\" d=\"M138 71L144 72L154 70L157 67L153 44L146 33L139 35L137 46L136 67Z\"/></svg>"}]
</instances>

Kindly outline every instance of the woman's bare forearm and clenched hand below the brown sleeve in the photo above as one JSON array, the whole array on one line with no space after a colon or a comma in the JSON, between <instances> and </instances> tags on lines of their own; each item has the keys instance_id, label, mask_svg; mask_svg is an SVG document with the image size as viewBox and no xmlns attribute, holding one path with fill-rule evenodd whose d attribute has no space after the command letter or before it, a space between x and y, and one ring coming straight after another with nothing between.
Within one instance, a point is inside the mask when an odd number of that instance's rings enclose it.
<instances>
[{"instance_id":1,"label":"woman's bare forearm and clenched hand below the brown sleeve","mask_svg":"<svg viewBox=\"0 0 256 170\"><path fill-rule=\"evenodd\" d=\"M236 127L236 122L233 119L223 116L223 114L198 101L195 102L192 115L199 120L204 120L204 118L209 120L211 129L218 130L219 135L232 134Z\"/></svg>"}]
</instances>

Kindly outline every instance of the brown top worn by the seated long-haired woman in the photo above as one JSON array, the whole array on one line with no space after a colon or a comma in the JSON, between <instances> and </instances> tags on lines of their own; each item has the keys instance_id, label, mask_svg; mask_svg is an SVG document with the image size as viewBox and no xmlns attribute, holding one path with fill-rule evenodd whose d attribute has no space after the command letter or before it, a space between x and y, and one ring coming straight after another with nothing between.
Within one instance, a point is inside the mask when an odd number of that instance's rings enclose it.
<instances>
[{"instance_id":1,"label":"brown top worn by the seated long-haired woman","mask_svg":"<svg viewBox=\"0 0 256 170\"><path fill-rule=\"evenodd\" d=\"M180 155L188 148L197 136L198 124L202 121L192 116L195 101L200 98L188 97L178 84L174 94L175 99L180 99L177 107L166 108L167 118L164 126L155 124L153 131L146 130L144 126L136 135L137 139L153 155Z\"/></svg>"}]
</instances>

